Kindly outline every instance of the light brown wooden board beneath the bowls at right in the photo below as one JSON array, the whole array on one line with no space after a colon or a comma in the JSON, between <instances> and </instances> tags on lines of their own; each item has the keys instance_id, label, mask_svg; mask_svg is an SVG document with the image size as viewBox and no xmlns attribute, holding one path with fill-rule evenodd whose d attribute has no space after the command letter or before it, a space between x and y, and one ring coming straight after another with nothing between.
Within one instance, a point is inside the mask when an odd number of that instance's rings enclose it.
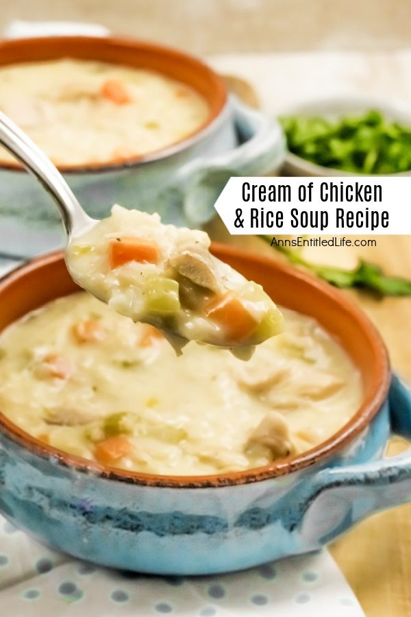
<instances>
[{"instance_id":1,"label":"light brown wooden board beneath the bowls at right","mask_svg":"<svg viewBox=\"0 0 411 617\"><path fill-rule=\"evenodd\" d=\"M225 77L229 88L252 106L258 97L244 80ZM210 226L214 239L240 244L259 252L282 256L256 237L232 237L219 221ZM310 248L308 257L319 263L353 267L364 258L387 274L411 278L411 237L379 236L375 247ZM373 320L388 347L394 370L411 382L411 298L377 300L358 291L343 291ZM393 439L390 455L408 447ZM379 513L330 546L367 617L411 616L411 505Z\"/></svg>"}]
</instances>

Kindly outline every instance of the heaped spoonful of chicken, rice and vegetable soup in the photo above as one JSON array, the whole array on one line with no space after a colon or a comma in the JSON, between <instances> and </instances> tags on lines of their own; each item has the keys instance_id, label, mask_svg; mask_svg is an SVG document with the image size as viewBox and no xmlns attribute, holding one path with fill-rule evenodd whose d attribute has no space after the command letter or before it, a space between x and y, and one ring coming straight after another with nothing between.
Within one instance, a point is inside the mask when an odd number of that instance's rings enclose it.
<instances>
[{"instance_id":1,"label":"heaped spoonful of chicken, rice and vegetable soup","mask_svg":"<svg viewBox=\"0 0 411 617\"><path fill-rule=\"evenodd\" d=\"M66 251L73 279L135 322L187 340L246 348L282 330L261 285L210 254L205 232L163 225L157 214L112 208Z\"/></svg>"}]
</instances>

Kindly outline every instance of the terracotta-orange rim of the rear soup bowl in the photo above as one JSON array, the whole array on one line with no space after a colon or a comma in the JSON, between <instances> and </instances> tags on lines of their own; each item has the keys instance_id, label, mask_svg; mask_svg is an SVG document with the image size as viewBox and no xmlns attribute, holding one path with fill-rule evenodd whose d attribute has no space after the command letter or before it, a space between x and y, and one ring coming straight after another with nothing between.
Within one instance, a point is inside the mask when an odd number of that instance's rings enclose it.
<instances>
[{"instance_id":1,"label":"terracotta-orange rim of the rear soup bowl","mask_svg":"<svg viewBox=\"0 0 411 617\"><path fill-rule=\"evenodd\" d=\"M96 173L134 167L145 162L167 158L200 141L223 121L227 108L227 88L221 77L207 64L184 51L147 41L117 36L47 36L0 41L0 66L30 64L73 58L97 60L109 64L134 66L157 71L182 82L202 95L209 107L208 119L199 128L179 141L148 154L117 158L110 162L90 162L82 165L56 165L62 173ZM0 162L0 170L25 172L18 162Z\"/></svg>"}]
</instances>

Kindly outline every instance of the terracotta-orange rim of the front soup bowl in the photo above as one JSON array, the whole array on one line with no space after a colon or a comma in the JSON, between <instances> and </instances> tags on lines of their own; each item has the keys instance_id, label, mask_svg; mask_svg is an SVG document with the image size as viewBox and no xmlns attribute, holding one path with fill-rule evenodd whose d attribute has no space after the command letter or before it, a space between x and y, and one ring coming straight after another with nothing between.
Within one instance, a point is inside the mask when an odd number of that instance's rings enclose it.
<instances>
[{"instance_id":1,"label":"terracotta-orange rim of the front soup bowl","mask_svg":"<svg viewBox=\"0 0 411 617\"><path fill-rule=\"evenodd\" d=\"M369 383L365 387L364 402L362 403L360 409L358 409L358 411L353 415L351 420L349 420L349 422L347 422L347 424L345 424L340 431L334 433L332 437L326 441L323 441L311 450L294 457L288 457L288 459L274 461L269 465L264 465L264 467L253 468L240 472L201 476L162 476L159 474L130 472L127 470L111 468L107 465L101 465L97 462L83 459L75 455L70 455L62 450L48 446L23 431L13 422L8 420L5 415L0 413L0 427L3 433L12 439L12 441L16 441L21 446L33 452L34 455L39 455L42 458L49 458L52 456L55 459L58 459L58 461L63 465L69 468L75 468L79 471L94 472L97 476L103 476L108 479L125 481L139 485L197 488L253 483L307 469L311 465L325 461L325 459L327 459L330 455L336 454L336 452L347 446L357 435L366 430L369 422L378 413L379 409L381 409L382 404L384 404L390 385L388 354L379 333L373 324L371 324L368 317L366 317L360 309L347 300L345 295L340 293L340 291L334 287L331 287L320 280L316 280L312 276L285 265L284 263L279 263L269 256L260 256L255 253L247 252L246 250L240 250L236 247L222 245L219 243L213 243L212 250L214 254L223 260L227 259L229 263L234 263L235 267L241 267L241 265L243 265L245 266L244 269L246 269L248 265L250 270L258 268L260 272L264 271L267 280L272 281L273 275L275 275L277 281L284 282L284 284L286 284L287 280L293 280L294 284L299 288L299 299L296 301L297 304L301 302L301 298L309 298L310 295L314 294L314 300L317 302L317 306L316 311L311 314L318 315L321 311L323 311L324 314L322 317L330 319L331 322L334 319L336 326L335 331L333 332L334 337L338 337L339 328L343 331L347 327L347 324L349 326L351 322L354 326L356 326L357 335L356 332L351 332L351 341L349 342L353 350L358 351L359 354L367 354L367 358L369 356L369 359L367 359L366 369L364 370L370 372L371 376L369 376ZM19 299L21 300L27 297L26 290L24 289L25 286L21 285L21 281L25 279L25 276L33 277L36 276L36 272L44 270L42 271L42 276L40 277L41 280L44 281L47 280L47 269L51 271L53 267L55 269L60 267L61 278L61 273L64 274L64 270L66 271L64 256L61 252L40 256L32 261L29 261L25 265L22 265L18 269L11 271L0 280L0 298L3 294L7 295L8 289L14 289L14 291L17 289L17 301L14 301L18 304ZM64 270L62 268L64 268ZM282 281L282 279L284 281ZM67 280L69 280L69 276L67 276ZM67 295L67 293L76 291L75 285L71 280L69 283L64 283L64 285L65 287L62 293L58 293L53 297L57 298L58 295ZM284 293L284 289L282 293ZM290 308L293 308L293 306L290 306ZM301 312L310 314L310 312L306 310ZM336 317L338 317L338 315L340 315L340 322L337 324ZM323 324L322 317L319 321ZM348 321L343 327L341 324L343 324L345 320ZM7 324L5 324L5 326L6 325ZM350 327L351 326L349 326L349 328ZM360 341L358 341L358 332L362 332L366 344L359 344ZM344 345L347 341L341 339L340 342Z\"/></svg>"}]
</instances>

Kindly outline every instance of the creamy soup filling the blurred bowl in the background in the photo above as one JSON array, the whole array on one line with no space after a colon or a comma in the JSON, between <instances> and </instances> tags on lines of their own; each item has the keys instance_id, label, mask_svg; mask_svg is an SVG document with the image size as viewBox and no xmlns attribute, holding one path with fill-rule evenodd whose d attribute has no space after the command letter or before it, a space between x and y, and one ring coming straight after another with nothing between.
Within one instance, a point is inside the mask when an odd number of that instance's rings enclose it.
<instances>
[{"instance_id":1,"label":"creamy soup filling the blurred bowl in the background","mask_svg":"<svg viewBox=\"0 0 411 617\"><path fill-rule=\"evenodd\" d=\"M55 165L121 162L164 149L210 113L199 93L160 73L68 59L1 66L0 110ZM0 161L15 159L1 149Z\"/></svg>"}]
</instances>

